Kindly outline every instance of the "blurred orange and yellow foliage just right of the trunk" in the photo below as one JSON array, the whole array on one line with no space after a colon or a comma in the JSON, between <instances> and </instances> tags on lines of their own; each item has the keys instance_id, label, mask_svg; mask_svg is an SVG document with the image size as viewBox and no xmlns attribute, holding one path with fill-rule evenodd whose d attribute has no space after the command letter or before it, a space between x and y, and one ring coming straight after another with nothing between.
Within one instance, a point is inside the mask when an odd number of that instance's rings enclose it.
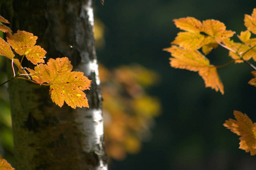
<instances>
[{"instance_id":1,"label":"blurred orange and yellow foliage just right of the trunk","mask_svg":"<svg viewBox=\"0 0 256 170\"><path fill-rule=\"evenodd\" d=\"M159 82L159 76L140 65L108 70L100 65L106 152L125 159L138 153L141 142L151 137L150 127L159 116L160 102L144 90Z\"/></svg>"}]
</instances>

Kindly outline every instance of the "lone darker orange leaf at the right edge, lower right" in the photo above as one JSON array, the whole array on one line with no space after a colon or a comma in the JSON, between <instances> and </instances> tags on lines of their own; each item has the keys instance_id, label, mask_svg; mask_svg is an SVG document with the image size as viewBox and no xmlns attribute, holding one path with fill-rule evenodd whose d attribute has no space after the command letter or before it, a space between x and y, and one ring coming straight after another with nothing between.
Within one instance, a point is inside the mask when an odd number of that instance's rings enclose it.
<instances>
[{"instance_id":1,"label":"lone darker orange leaf at the right edge, lower right","mask_svg":"<svg viewBox=\"0 0 256 170\"><path fill-rule=\"evenodd\" d=\"M240 135L240 147L251 155L256 155L256 124L250 118L239 111L234 111L236 120L229 119L225 121L224 126L233 133Z\"/></svg>"}]
</instances>

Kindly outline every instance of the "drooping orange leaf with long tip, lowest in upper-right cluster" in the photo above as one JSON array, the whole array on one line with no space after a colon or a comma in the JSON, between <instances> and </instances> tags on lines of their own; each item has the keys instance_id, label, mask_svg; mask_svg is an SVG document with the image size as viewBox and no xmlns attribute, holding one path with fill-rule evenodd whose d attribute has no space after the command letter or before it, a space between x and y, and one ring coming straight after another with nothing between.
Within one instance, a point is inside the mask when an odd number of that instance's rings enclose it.
<instances>
[{"instance_id":1,"label":"drooping orange leaf with long tip, lowest in upper-right cluster","mask_svg":"<svg viewBox=\"0 0 256 170\"><path fill-rule=\"evenodd\" d=\"M199 75L204 79L205 87L211 87L216 91L220 90L221 94L224 94L224 87L217 74L217 69L210 65L209 59L199 51L187 50L175 45L164 50L170 52L172 57L174 57L170 58L172 67L199 71Z\"/></svg>"}]
</instances>

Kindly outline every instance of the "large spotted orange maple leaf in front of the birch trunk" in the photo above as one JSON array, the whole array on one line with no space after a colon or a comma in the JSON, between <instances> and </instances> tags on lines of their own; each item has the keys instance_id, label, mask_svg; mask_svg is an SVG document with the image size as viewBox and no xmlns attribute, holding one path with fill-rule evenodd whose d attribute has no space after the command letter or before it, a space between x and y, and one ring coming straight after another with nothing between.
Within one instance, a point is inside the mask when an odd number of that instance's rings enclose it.
<instances>
[{"instance_id":1,"label":"large spotted orange maple leaf in front of the birch trunk","mask_svg":"<svg viewBox=\"0 0 256 170\"><path fill-rule=\"evenodd\" d=\"M88 107L84 90L88 90L91 80L79 71L71 71L71 61L67 57L49 59L47 65L40 63L35 69L27 69L33 80L50 85L49 94L54 103L62 107L67 103L70 107Z\"/></svg>"}]
</instances>

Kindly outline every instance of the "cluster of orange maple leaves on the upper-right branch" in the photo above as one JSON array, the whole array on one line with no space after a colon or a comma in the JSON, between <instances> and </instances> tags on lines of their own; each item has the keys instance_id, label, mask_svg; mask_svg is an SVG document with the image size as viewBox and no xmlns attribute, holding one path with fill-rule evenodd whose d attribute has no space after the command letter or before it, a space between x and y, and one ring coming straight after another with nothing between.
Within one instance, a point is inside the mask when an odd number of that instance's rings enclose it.
<instances>
[{"instance_id":1,"label":"cluster of orange maple leaves on the upper-right branch","mask_svg":"<svg viewBox=\"0 0 256 170\"><path fill-rule=\"evenodd\" d=\"M229 63L249 63L247 61L251 58L256 61L256 39L251 38L251 33L256 34L256 8L253 14L245 15L247 30L238 35L241 42L230 40L235 32L226 30L225 24L218 20L208 19L200 22L187 17L174 19L174 22L183 32L177 34L170 48L164 49L171 53L170 64L175 68L198 71L204 79L205 87L211 87L224 94L224 86L217 73L217 67L220 66L210 65L209 59L205 57L219 45L229 50L229 56L233 59ZM255 79L249 83L255 86Z\"/></svg>"}]
</instances>

